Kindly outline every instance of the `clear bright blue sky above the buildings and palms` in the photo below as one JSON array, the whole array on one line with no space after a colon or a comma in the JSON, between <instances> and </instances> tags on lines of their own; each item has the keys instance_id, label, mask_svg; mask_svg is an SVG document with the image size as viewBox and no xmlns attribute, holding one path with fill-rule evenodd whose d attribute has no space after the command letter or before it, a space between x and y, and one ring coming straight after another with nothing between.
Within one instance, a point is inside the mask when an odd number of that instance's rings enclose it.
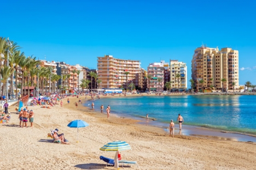
<instances>
[{"instance_id":1,"label":"clear bright blue sky above the buildings and palms","mask_svg":"<svg viewBox=\"0 0 256 170\"><path fill-rule=\"evenodd\" d=\"M0 37L26 56L97 68L104 54L188 65L196 47L239 51L240 84L256 84L256 1L2 1Z\"/></svg>"}]
</instances>

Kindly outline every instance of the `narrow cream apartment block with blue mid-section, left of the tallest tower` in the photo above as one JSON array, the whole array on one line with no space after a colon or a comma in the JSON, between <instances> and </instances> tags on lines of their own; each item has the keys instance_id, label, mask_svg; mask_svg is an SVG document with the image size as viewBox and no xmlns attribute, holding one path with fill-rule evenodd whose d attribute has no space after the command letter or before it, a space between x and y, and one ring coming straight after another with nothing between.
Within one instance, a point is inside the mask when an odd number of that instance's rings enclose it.
<instances>
[{"instance_id":1,"label":"narrow cream apartment block with blue mid-section, left of the tallest tower","mask_svg":"<svg viewBox=\"0 0 256 170\"><path fill-rule=\"evenodd\" d=\"M183 92L187 89L187 64L170 60L171 92Z\"/></svg>"}]
</instances>

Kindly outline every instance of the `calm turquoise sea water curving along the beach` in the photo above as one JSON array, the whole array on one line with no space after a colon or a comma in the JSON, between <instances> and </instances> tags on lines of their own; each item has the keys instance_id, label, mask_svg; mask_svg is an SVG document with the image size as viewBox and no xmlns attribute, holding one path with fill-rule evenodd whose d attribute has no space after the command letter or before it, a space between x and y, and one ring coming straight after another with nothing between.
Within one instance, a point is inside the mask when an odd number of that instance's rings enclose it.
<instances>
[{"instance_id":1,"label":"calm turquoise sea water curving along the beach","mask_svg":"<svg viewBox=\"0 0 256 170\"><path fill-rule=\"evenodd\" d=\"M88 101L85 106L91 101ZM138 96L96 100L95 108L119 116L156 118L159 123L176 122L178 113L184 124L256 135L255 95Z\"/></svg>"}]
</instances>

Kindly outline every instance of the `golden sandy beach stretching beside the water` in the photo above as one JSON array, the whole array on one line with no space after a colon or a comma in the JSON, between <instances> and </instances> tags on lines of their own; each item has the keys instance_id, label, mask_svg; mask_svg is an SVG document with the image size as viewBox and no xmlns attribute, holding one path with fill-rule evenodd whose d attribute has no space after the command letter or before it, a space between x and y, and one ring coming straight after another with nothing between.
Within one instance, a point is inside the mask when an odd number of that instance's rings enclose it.
<instances>
[{"instance_id":1,"label":"golden sandy beach stretching beside the water","mask_svg":"<svg viewBox=\"0 0 256 170\"><path fill-rule=\"evenodd\" d=\"M81 98L85 100L84 96ZM163 129L138 124L138 120L115 117L111 113L107 119L106 114L91 111L82 104L75 108L78 99L69 99L70 104L67 99L62 100L62 108L60 105L50 109L28 107L34 111L34 127L19 127L18 114L11 114L9 123L0 124L3 156L0 169L114 169L104 167L106 163L99 157L113 159L114 151L100 148L117 140L126 141L132 148L121 151L122 159L138 163L138 167L124 166L124 169L255 169L255 143L178 134L172 138ZM14 109L11 106L9 111ZM79 129L78 143L77 129L67 127L75 119L89 124ZM64 133L71 144L51 142L47 133L55 128Z\"/></svg>"}]
</instances>

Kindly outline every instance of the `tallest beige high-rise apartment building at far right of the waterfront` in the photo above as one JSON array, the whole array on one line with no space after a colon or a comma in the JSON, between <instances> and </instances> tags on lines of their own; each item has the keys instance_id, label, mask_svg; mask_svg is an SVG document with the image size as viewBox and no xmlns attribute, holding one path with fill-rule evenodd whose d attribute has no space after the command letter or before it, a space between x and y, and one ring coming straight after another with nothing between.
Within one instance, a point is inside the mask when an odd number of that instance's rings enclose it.
<instances>
[{"instance_id":1,"label":"tallest beige high-rise apartment building at far right of the waterfront","mask_svg":"<svg viewBox=\"0 0 256 170\"><path fill-rule=\"evenodd\" d=\"M197 90L239 89L238 51L232 48L196 48L191 63Z\"/></svg>"}]
</instances>

